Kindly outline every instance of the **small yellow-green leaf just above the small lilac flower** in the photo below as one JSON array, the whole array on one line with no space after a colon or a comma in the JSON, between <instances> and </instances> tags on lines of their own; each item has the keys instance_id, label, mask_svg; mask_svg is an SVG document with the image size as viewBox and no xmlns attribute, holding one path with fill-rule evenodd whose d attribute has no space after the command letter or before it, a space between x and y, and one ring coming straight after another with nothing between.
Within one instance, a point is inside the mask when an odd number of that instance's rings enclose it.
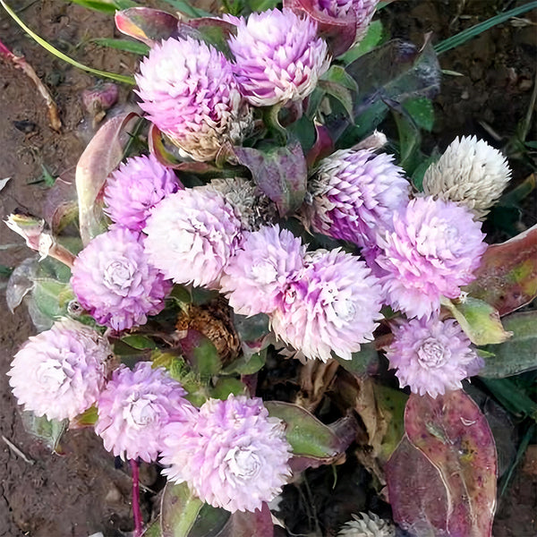
<instances>
[{"instance_id":1,"label":"small yellow-green leaf just above the small lilac flower","mask_svg":"<svg viewBox=\"0 0 537 537\"><path fill-rule=\"evenodd\" d=\"M511 337L501 325L498 311L482 300L466 296L460 303L445 298L441 303L451 311L474 345L503 343Z\"/></svg>"}]
</instances>

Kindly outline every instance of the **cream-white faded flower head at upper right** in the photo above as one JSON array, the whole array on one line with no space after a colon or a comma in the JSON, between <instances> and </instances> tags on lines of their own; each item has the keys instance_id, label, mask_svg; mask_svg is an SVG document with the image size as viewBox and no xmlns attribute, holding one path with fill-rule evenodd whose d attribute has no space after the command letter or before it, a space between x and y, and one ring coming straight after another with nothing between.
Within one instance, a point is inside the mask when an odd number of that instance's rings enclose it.
<instances>
[{"instance_id":1,"label":"cream-white faded flower head at upper right","mask_svg":"<svg viewBox=\"0 0 537 537\"><path fill-rule=\"evenodd\" d=\"M482 220L511 178L507 159L475 136L452 141L423 176L423 192L456 201Z\"/></svg>"}]
</instances>

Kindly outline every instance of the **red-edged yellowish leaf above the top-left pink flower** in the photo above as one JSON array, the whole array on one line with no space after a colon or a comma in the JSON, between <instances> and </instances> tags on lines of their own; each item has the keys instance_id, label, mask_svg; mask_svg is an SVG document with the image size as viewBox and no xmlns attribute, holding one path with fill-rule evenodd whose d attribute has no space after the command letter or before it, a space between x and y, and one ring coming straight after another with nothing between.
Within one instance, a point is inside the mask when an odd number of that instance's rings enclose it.
<instances>
[{"instance_id":1,"label":"red-edged yellowish leaf above the top-left pink flower","mask_svg":"<svg viewBox=\"0 0 537 537\"><path fill-rule=\"evenodd\" d=\"M149 47L178 33L179 20L172 14L149 7L131 7L115 13L115 26Z\"/></svg>"}]
</instances>

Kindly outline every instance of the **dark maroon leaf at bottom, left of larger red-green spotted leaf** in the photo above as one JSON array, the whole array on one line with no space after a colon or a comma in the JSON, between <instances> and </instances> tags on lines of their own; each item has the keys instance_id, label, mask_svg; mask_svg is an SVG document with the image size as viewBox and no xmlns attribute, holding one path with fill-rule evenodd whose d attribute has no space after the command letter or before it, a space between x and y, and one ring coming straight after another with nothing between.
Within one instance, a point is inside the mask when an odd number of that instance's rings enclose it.
<instances>
[{"instance_id":1,"label":"dark maroon leaf at bottom, left of larger red-green spotted leaf","mask_svg":"<svg viewBox=\"0 0 537 537\"><path fill-rule=\"evenodd\" d=\"M449 537L449 499L439 470L405 435L384 466L394 520L420 537Z\"/></svg>"}]
</instances>

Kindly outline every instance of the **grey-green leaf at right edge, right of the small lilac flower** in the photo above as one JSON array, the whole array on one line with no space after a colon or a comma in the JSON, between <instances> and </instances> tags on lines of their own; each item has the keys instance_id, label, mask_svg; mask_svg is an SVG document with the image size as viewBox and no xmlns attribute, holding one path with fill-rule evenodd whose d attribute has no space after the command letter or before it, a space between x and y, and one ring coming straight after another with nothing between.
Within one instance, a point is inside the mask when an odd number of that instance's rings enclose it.
<instances>
[{"instance_id":1,"label":"grey-green leaf at right edge, right of the small lilac flower","mask_svg":"<svg viewBox=\"0 0 537 537\"><path fill-rule=\"evenodd\" d=\"M503 379L537 369L537 311L508 315L503 325L513 337L500 345L483 347L490 355L485 358L480 377Z\"/></svg>"}]
</instances>

